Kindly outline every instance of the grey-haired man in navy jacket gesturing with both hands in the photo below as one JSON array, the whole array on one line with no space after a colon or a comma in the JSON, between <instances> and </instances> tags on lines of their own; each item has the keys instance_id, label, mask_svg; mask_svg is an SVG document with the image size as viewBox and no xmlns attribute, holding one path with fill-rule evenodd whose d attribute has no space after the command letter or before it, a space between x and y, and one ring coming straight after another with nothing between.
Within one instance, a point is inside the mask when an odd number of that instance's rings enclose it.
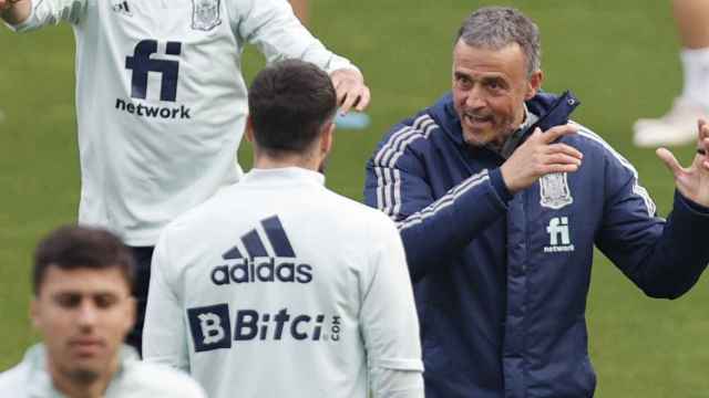
<instances>
[{"instance_id":1,"label":"grey-haired man in navy jacket gesturing with both hands","mask_svg":"<svg viewBox=\"0 0 709 398\"><path fill-rule=\"evenodd\" d=\"M415 283L429 398L592 397L594 245L651 297L680 296L709 261L705 156L681 169L660 151L678 187L664 220L633 166L567 124L577 100L541 80L533 22L481 9L459 33L452 93L368 164L366 201L398 223ZM709 126L698 134L706 150Z\"/></svg>"}]
</instances>

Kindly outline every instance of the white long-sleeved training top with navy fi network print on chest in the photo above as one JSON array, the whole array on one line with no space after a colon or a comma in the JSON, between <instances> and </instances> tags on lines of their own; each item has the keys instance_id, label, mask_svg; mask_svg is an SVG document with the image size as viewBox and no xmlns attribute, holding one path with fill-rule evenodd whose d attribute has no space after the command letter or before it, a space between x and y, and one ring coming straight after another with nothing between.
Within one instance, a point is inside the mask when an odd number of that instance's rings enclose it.
<instances>
[{"instance_id":1,"label":"white long-sleeved training top with navy fi network print on chest","mask_svg":"<svg viewBox=\"0 0 709 398\"><path fill-rule=\"evenodd\" d=\"M27 31L69 21L76 38L79 221L155 244L161 229L242 175L242 51L353 69L286 0L32 0Z\"/></svg>"}]
</instances>

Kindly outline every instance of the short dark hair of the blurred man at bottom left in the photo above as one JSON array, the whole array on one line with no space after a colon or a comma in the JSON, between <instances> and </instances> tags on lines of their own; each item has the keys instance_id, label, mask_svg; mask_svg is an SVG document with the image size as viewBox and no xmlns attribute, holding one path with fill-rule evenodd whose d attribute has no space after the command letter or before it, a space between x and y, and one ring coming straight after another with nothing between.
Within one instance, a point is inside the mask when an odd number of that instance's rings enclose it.
<instances>
[{"instance_id":1,"label":"short dark hair of the blurred man at bottom left","mask_svg":"<svg viewBox=\"0 0 709 398\"><path fill-rule=\"evenodd\" d=\"M135 260L133 253L113 233L90 227L64 226L50 232L34 250L32 291L39 295L50 266L62 270L116 268L133 290Z\"/></svg>"}]
</instances>

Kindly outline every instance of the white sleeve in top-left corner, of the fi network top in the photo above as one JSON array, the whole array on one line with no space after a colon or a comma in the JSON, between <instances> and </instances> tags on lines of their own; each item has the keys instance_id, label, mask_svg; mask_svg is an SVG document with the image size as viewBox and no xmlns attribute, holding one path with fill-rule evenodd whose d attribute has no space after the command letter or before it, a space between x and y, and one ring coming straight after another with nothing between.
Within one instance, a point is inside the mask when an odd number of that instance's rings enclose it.
<instances>
[{"instance_id":1,"label":"white sleeve in top-left corner, of the fi network top","mask_svg":"<svg viewBox=\"0 0 709 398\"><path fill-rule=\"evenodd\" d=\"M86 3L90 0L31 0L32 12L27 21L8 28L16 32L25 32L42 28L48 24L58 24L65 21L73 24L86 13Z\"/></svg>"}]
</instances>

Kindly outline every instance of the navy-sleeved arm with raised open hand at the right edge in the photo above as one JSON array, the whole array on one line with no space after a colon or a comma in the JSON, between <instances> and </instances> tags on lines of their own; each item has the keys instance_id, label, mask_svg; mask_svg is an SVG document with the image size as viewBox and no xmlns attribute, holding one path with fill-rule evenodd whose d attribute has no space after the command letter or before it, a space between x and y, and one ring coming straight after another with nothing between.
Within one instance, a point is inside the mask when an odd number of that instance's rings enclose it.
<instances>
[{"instance_id":1,"label":"navy-sleeved arm with raised open hand at the right edge","mask_svg":"<svg viewBox=\"0 0 709 398\"><path fill-rule=\"evenodd\" d=\"M709 125L703 122L697 146L705 154L709 148ZM635 170L628 171L629 166L609 156L606 175L614 188L596 243L647 295L676 298L697 283L709 262L709 163L699 153L685 168L669 150L660 148L657 153L674 174L677 187L667 221L655 217Z\"/></svg>"}]
</instances>

